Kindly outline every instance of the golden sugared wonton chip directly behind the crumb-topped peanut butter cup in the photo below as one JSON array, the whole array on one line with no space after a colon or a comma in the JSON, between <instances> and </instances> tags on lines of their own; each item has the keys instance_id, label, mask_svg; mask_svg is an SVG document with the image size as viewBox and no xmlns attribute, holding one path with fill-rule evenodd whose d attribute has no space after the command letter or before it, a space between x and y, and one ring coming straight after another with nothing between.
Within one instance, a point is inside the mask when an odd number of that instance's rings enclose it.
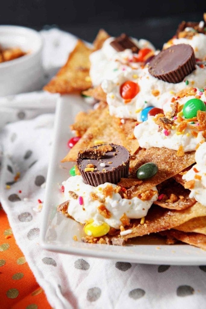
<instances>
[{"instance_id":1,"label":"golden sugared wonton chip directly behind the crumb-topped peanut butter cup","mask_svg":"<svg viewBox=\"0 0 206 309\"><path fill-rule=\"evenodd\" d=\"M126 119L122 124L119 118L110 116L108 108L102 111L102 115L88 128L82 138L69 151L62 162L76 161L79 150L85 150L97 144L122 145L133 154L138 148L137 139L134 138L133 129L136 121Z\"/></svg>"}]
</instances>

